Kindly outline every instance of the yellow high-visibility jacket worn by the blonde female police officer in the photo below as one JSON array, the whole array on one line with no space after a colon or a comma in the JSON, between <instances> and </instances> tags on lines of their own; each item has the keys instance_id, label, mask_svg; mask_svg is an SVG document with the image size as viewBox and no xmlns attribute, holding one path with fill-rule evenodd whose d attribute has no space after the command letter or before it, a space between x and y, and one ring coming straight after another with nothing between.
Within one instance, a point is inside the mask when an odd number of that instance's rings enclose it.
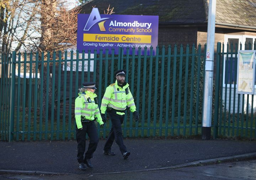
<instances>
[{"instance_id":1,"label":"yellow high-visibility jacket worn by the blonde female police officer","mask_svg":"<svg viewBox=\"0 0 256 180\"><path fill-rule=\"evenodd\" d=\"M94 120L97 117L97 122L100 125L104 124L100 116L100 109L94 100L97 95L91 91L79 92L78 95L75 99L75 120L78 129L82 128L81 116L88 120ZM91 102L89 102L89 98Z\"/></svg>"}]
</instances>

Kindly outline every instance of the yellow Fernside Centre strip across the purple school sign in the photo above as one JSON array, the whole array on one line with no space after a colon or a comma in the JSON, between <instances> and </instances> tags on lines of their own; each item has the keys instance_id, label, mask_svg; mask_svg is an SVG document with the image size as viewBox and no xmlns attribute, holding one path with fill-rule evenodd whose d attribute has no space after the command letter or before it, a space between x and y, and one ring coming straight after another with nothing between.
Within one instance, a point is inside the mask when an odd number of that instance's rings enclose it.
<instances>
[{"instance_id":1,"label":"yellow Fernside Centre strip across the purple school sign","mask_svg":"<svg viewBox=\"0 0 256 180\"><path fill-rule=\"evenodd\" d=\"M83 41L112 43L151 43L151 35L84 34Z\"/></svg>"}]
</instances>

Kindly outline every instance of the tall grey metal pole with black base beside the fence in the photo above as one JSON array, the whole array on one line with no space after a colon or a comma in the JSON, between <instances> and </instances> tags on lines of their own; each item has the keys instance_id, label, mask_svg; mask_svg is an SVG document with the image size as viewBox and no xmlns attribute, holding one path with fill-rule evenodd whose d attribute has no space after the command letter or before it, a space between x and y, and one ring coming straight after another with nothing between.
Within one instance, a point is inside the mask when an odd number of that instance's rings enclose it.
<instances>
[{"instance_id":1,"label":"tall grey metal pole with black base beside the fence","mask_svg":"<svg viewBox=\"0 0 256 180\"><path fill-rule=\"evenodd\" d=\"M216 11L216 0L209 0L208 27L207 27L207 52L206 52L204 96L203 96L203 124L202 124L203 140L210 139L211 124L212 124L215 11Z\"/></svg>"}]
</instances>

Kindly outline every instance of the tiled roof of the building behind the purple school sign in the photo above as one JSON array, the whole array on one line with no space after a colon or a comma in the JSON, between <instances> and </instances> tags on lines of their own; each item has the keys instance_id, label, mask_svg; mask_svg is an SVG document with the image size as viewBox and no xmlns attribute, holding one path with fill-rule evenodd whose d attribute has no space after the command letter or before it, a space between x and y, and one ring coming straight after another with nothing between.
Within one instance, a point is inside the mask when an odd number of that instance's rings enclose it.
<instances>
[{"instance_id":1,"label":"tiled roof of the building behind the purple school sign","mask_svg":"<svg viewBox=\"0 0 256 180\"><path fill-rule=\"evenodd\" d=\"M119 15L155 15L159 23L203 23L208 19L209 0L91 0L81 13L90 13L96 6L100 13L108 5ZM216 0L216 23L256 27L255 0Z\"/></svg>"}]
</instances>

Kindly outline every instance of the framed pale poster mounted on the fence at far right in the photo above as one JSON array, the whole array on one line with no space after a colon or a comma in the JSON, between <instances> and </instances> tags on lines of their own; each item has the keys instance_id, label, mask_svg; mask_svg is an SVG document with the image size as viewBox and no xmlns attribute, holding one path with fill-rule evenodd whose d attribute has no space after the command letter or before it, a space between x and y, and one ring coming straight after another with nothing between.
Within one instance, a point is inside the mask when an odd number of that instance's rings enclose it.
<instances>
[{"instance_id":1,"label":"framed pale poster mounted on the fence at far right","mask_svg":"<svg viewBox=\"0 0 256 180\"><path fill-rule=\"evenodd\" d=\"M256 50L238 51L237 93L254 94Z\"/></svg>"}]
</instances>

